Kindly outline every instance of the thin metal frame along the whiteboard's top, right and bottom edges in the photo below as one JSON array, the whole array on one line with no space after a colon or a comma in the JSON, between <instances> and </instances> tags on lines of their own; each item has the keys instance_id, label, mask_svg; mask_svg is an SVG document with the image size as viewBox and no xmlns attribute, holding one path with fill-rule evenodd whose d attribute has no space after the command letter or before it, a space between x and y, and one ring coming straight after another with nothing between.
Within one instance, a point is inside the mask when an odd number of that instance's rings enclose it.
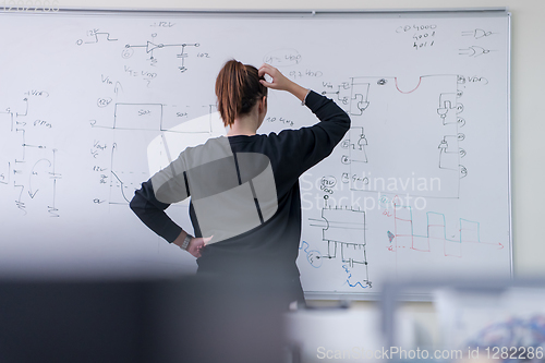
<instances>
[{"instance_id":1,"label":"thin metal frame along the whiteboard's top, right and bottom edges","mask_svg":"<svg viewBox=\"0 0 545 363\"><path fill-rule=\"evenodd\" d=\"M94 8L59 8L57 11L24 11L24 10L5 10L5 5L0 8L0 16L10 15L35 15L48 16L56 15L96 15L96 16L205 16L205 17L400 17L410 19L415 16L443 16L443 17L472 17L472 16L489 16L500 17L506 16L508 22L507 34L507 147L508 147L508 213L509 213L509 273L510 279L514 278L513 268L513 233L512 233L512 182L511 182L511 13L506 8L447 8L447 9L353 9L353 10L233 10L233 9L94 9ZM385 285L388 281L384 281ZM338 300L338 301L380 301L383 297L382 291L377 292L316 292L305 291L305 299L307 300ZM432 295L424 294L403 294L402 301L432 301Z\"/></svg>"}]
</instances>

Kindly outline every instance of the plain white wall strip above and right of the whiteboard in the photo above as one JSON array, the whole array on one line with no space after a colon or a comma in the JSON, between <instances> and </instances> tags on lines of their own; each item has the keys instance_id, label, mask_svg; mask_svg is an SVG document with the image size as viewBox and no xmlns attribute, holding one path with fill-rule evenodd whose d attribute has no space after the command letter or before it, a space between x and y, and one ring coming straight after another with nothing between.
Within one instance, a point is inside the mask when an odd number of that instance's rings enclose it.
<instances>
[{"instance_id":1,"label":"plain white wall strip above and right of the whiteboard","mask_svg":"<svg viewBox=\"0 0 545 363\"><path fill-rule=\"evenodd\" d=\"M60 0L61 8L164 10L339 10L509 8L512 13L511 178L517 277L545 275L545 1L543 0Z\"/></svg>"}]
</instances>

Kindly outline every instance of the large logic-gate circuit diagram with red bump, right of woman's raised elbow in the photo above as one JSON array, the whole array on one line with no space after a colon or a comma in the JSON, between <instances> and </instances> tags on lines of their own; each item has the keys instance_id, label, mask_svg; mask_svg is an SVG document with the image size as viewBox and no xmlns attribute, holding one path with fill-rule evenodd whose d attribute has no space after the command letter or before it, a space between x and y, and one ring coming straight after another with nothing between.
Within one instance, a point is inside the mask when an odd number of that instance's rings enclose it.
<instances>
[{"instance_id":1,"label":"large logic-gate circuit diagram with red bump, right of woman's raised elbow","mask_svg":"<svg viewBox=\"0 0 545 363\"><path fill-rule=\"evenodd\" d=\"M343 179L350 187L459 197L460 179L470 172L463 165L464 83L464 76L426 75L403 88L398 77L353 77L323 92L352 118L341 143ZM425 135L419 144L412 136L416 130ZM408 179L410 187L401 190Z\"/></svg>"}]
</instances>

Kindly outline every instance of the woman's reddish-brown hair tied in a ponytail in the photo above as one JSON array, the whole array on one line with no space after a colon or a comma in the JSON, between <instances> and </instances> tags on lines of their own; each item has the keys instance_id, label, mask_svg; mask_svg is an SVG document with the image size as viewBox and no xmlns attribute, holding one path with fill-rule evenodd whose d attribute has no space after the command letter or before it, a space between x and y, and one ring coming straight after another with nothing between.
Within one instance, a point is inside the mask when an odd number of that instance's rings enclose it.
<instances>
[{"instance_id":1,"label":"woman's reddish-brown hair tied in a ponytail","mask_svg":"<svg viewBox=\"0 0 545 363\"><path fill-rule=\"evenodd\" d=\"M267 87L261 84L257 69L232 59L228 61L216 78L218 111L223 124L232 125L234 119L249 113L257 100L267 95Z\"/></svg>"}]
</instances>

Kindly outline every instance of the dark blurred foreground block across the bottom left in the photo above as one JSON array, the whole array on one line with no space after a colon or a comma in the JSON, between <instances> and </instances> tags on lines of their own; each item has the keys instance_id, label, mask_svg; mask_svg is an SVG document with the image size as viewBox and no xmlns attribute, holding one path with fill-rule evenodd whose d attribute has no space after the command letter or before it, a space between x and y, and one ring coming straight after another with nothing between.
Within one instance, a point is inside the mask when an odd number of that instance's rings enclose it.
<instances>
[{"instance_id":1,"label":"dark blurred foreground block across the bottom left","mask_svg":"<svg viewBox=\"0 0 545 363\"><path fill-rule=\"evenodd\" d=\"M0 362L280 362L274 283L0 281Z\"/></svg>"}]
</instances>

